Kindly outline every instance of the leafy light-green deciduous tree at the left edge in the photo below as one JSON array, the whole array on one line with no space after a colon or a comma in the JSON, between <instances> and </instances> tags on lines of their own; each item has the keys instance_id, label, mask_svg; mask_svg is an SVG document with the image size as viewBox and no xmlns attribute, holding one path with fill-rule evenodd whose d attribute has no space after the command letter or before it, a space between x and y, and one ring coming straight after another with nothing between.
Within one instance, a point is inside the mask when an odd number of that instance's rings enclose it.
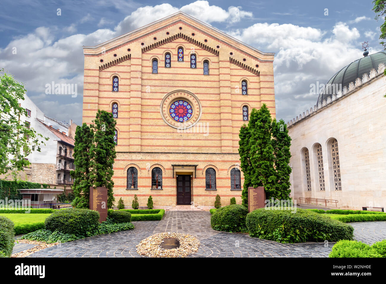
<instances>
[{"instance_id":1,"label":"leafy light-green deciduous tree at the left edge","mask_svg":"<svg viewBox=\"0 0 386 284\"><path fill-rule=\"evenodd\" d=\"M0 68L0 72L4 71ZM43 140L49 139L21 119L27 116L26 109L20 106L26 92L12 75L0 75L0 174L10 173L14 179L18 171L30 164L25 157L33 151L40 152Z\"/></svg>"}]
</instances>

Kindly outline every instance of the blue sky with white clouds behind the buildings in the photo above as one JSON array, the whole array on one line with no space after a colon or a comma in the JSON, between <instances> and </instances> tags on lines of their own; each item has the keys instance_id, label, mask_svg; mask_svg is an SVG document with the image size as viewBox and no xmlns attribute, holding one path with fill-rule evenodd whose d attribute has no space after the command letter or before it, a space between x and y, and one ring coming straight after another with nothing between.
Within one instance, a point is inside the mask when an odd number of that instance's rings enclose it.
<instances>
[{"instance_id":1,"label":"blue sky with white clouds behind the buildings","mask_svg":"<svg viewBox=\"0 0 386 284\"><path fill-rule=\"evenodd\" d=\"M237 7L235 7L237 6ZM276 113L285 121L313 107L310 84L370 53L381 22L372 1L11 1L0 10L0 67L25 83L47 115L81 123L82 45L96 45L182 10L264 52L276 53ZM61 15L57 15L61 9ZM325 15L328 9L328 15ZM16 48L17 53L12 51ZM76 83L78 96L46 95L47 83Z\"/></svg>"}]
</instances>

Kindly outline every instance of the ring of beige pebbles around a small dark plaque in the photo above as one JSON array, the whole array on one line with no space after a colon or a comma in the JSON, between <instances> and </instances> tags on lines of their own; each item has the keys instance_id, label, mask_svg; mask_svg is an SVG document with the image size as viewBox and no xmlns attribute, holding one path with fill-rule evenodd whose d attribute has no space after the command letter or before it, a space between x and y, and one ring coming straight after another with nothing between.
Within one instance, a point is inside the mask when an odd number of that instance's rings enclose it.
<instances>
[{"instance_id":1,"label":"ring of beige pebbles around a small dark plaque","mask_svg":"<svg viewBox=\"0 0 386 284\"><path fill-rule=\"evenodd\" d=\"M178 248L164 249L161 245L164 238L176 238ZM194 236L180 233L158 233L142 240L136 247L139 255L147 257L186 257L198 251L200 241Z\"/></svg>"}]
</instances>

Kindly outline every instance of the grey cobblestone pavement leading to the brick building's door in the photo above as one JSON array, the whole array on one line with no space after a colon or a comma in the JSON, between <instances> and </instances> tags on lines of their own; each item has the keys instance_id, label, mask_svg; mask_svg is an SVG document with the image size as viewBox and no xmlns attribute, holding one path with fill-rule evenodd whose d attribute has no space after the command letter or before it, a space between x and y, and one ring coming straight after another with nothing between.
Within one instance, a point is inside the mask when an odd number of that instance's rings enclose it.
<instances>
[{"instance_id":1,"label":"grey cobblestone pavement leading to the brick building's door","mask_svg":"<svg viewBox=\"0 0 386 284\"><path fill-rule=\"evenodd\" d=\"M161 221L133 224L134 230L70 241L29 257L141 257L135 247L141 240L168 231L187 233L200 240L198 252L189 257L328 257L334 244L281 244L244 233L215 231L210 227L210 213L205 211L168 211ZM386 221L350 224L355 228L356 240L374 243L386 239Z\"/></svg>"}]
</instances>

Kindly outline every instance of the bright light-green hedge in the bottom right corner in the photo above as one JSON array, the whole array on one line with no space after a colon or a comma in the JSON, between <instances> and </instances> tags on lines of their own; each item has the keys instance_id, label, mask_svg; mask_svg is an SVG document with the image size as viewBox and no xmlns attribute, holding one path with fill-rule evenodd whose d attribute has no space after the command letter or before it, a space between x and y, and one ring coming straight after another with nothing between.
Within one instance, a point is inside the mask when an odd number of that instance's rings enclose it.
<instances>
[{"instance_id":1,"label":"bright light-green hedge in the bottom right corner","mask_svg":"<svg viewBox=\"0 0 386 284\"><path fill-rule=\"evenodd\" d=\"M328 257L386 257L386 240L371 246L361 241L338 241Z\"/></svg>"}]
</instances>

